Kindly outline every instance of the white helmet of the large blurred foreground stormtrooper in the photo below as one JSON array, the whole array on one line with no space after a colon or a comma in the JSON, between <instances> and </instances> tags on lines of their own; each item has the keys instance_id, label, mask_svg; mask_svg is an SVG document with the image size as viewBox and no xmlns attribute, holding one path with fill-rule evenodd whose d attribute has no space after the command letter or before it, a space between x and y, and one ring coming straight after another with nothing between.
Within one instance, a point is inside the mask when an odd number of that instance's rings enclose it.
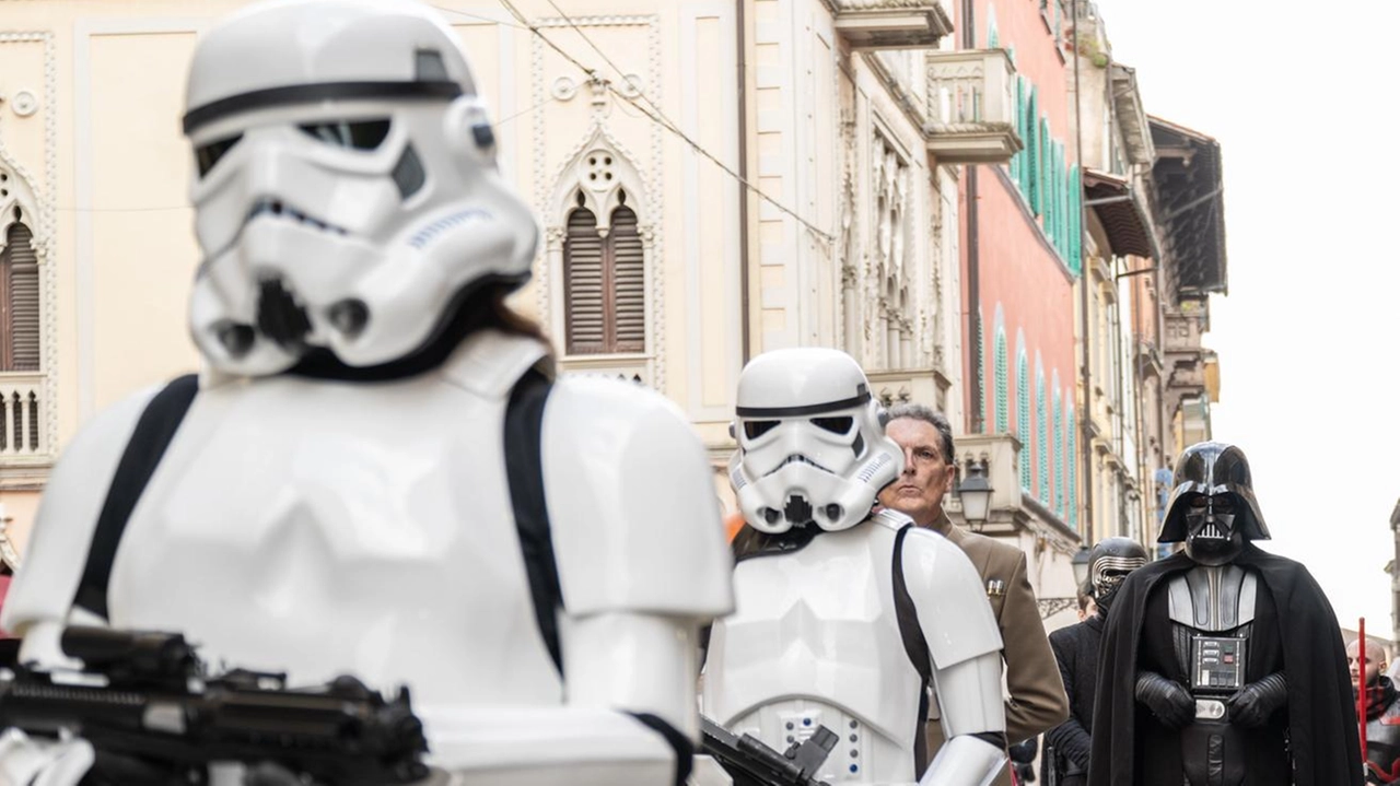
<instances>
[{"instance_id":1,"label":"white helmet of the large blurred foreground stormtrooper","mask_svg":"<svg viewBox=\"0 0 1400 786\"><path fill-rule=\"evenodd\" d=\"M207 362L372 368L472 292L529 278L538 229L496 168L455 34L412 0L258 3L200 38L186 90Z\"/></svg>"}]
</instances>

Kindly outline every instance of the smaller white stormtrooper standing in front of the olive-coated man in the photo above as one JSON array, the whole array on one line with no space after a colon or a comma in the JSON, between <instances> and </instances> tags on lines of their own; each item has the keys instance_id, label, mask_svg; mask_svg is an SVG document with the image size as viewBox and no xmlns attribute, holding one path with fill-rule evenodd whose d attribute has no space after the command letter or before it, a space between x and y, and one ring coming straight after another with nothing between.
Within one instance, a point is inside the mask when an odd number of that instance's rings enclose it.
<instances>
[{"instance_id":1,"label":"smaller white stormtrooper standing in front of the olive-coated man","mask_svg":"<svg viewBox=\"0 0 1400 786\"><path fill-rule=\"evenodd\" d=\"M860 366L767 352L736 404L738 611L711 631L706 715L778 751L834 731L816 773L830 783L990 783L1007 747L1001 635L960 550L871 513L904 459ZM949 741L930 766L931 685Z\"/></svg>"}]
</instances>

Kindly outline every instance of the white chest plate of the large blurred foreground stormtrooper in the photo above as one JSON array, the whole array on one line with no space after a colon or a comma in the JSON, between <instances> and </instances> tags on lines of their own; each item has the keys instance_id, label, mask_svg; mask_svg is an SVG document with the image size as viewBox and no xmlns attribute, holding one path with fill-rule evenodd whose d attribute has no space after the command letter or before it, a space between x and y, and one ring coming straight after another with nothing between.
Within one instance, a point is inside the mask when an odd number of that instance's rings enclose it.
<instances>
[{"instance_id":1,"label":"white chest plate of the large blurred foreground stormtrooper","mask_svg":"<svg viewBox=\"0 0 1400 786\"><path fill-rule=\"evenodd\" d=\"M431 373L200 393L127 524L112 624L294 683L409 684L417 705L559 703L503 414Z\"/></svg>"}]
</instances>

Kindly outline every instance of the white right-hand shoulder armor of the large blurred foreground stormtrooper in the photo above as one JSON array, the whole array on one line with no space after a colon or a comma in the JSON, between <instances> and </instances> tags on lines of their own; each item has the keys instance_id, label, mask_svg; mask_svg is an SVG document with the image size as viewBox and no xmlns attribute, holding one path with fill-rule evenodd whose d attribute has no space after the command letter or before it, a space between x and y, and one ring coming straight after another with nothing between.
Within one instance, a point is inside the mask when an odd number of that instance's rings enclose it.
<instances>
[{"instance_id":1,"label":"white right-hand shoulder armor of the large blurred foreground stormtrooper","mask_svg":"<svg viewBox=\"0 0 1400 786\"><path fill-rule=\"evenodd\" d=\"M734 607L714 473L671 401L626 382L561 378L545 404L542 463L570 614Z\"/></svg>"}]
</instances>

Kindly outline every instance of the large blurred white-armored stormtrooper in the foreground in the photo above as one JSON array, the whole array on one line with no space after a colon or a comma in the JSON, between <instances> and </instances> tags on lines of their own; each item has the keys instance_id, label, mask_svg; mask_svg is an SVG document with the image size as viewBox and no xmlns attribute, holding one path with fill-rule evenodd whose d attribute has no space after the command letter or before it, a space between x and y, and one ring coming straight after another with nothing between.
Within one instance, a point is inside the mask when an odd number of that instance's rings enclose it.
<instances>
[{"instance_id":1,"label":"large blurred white-armored stormtrooper in the foreground","mask_svg":"<svg viewBox=\"0 0 1400 786\"><path fill-rule=\"evenodd\" d=\"M683 782L696 635L732 607L706 453L652 392L553 379L504 306L536 225L451 28L252 6L200 38L183 126L206 371L55 469L4 607L22 659L76 666L74 622L178 631L293 684L409 685L438 779ZM91 759L10 731L0 782Z\"/></svg>"}]
</instances>

